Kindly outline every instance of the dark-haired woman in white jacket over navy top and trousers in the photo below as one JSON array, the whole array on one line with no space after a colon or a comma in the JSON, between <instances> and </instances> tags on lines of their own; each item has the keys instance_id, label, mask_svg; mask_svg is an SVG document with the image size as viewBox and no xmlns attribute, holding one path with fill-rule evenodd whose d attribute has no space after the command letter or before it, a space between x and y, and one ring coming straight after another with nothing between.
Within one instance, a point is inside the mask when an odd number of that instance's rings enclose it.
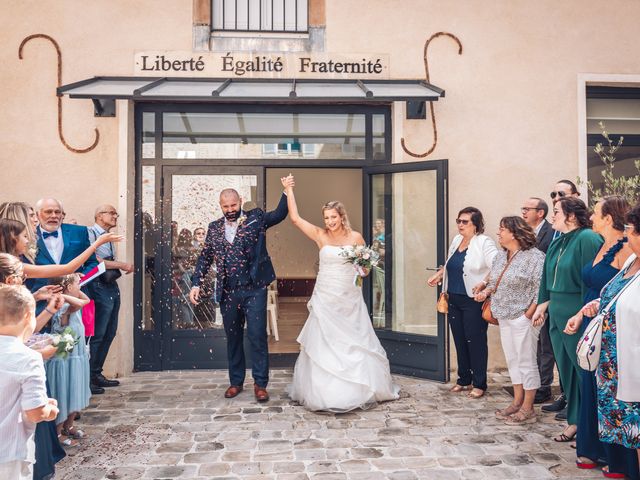
<instances>
[{"instance_id":1,"label":"dark-haired woman in white jacket over navy top and trousers","mask_svg":"<svg viewBox=\"0 0 640 480\"><path fill-rule=\"evenodd\" d=\"M458 381L451 391L469 391L470 398L480 398L487 389L488 324L482 319L482 304L473 297L498 248L484 235L484 219L477 208L460 210L456 224L458 235L449 246L447 262L427 284L435 287L443 282L442 291L449 296L449 326L458 359Z\"/></svg>"}]
</instances>

